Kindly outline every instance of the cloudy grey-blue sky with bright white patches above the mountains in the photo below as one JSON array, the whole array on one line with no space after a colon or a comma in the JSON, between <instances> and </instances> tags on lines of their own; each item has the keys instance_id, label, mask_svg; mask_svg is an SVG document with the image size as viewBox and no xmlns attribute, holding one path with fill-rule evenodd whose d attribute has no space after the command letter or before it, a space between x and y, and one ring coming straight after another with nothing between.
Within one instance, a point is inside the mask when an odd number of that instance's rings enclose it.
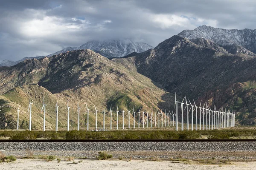
<instances>
[{"instance_id":1,"label":"cloudy grey-blue sky with bright white patches above the mountains","mask_svg":"<svg viewBox=\"0 0 256 170\"><path fill-rule=\"evenodd\" d=\"M201 25L256 29L255 0L1 0L0 61L48 55L89 40L156 46Z\"/></svg>"}]
</instances>

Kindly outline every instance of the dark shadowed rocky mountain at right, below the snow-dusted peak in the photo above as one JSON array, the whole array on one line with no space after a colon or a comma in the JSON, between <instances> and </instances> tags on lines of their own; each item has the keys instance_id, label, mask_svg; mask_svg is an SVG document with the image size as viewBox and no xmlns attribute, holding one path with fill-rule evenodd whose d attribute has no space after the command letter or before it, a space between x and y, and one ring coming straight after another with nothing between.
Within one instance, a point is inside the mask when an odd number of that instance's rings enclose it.
<instances>
[{"instance_id":1,"label":"dark shadowed rocky mountain at right, below the snow-dusted peak","mask_svg":"<svg viewBox=\"0 0 256 170\"><path fill-rule=\"evenodd\" d=\"M256 124L255 57L230 54L212 40L175 35L154 49L114 60L135 65L171 93L229 107L238 112L239 123Z\"/></svg>"}]
</instances>

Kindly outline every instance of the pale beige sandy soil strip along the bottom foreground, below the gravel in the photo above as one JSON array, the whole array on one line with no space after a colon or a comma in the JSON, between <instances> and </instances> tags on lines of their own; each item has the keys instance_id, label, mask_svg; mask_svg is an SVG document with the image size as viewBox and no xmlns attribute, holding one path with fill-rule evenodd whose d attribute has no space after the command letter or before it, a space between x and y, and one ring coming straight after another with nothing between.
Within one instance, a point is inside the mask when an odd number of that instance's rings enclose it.
<instances>
[{"instance_id":1,"label":"pale beige sandy soil strip along the bottom foreground, below the gravel","mask_svg":"<svg viewBox=\"0 0 256 170\"><path fill-rule=\"evenodd\" d=\"M74 161L78 162L79 159ZM1 170L255 170L256 162L230 162L222 165L202 165L197 162L143 161L143 160L90 160L81 163L38 159L17 159L15 162L0 163Z\"/></svg>"}]
</instances>

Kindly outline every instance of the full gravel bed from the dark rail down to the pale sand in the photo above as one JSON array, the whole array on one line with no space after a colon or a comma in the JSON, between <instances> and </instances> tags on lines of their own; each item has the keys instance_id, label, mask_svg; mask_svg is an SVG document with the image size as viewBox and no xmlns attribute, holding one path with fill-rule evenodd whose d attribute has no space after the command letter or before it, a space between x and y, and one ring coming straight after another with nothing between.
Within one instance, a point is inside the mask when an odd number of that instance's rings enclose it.
<instances>
[{"instance_id":1,"label":"full gravel bed from the dark rail down to the pale sand","mask_svg":"<svg viewBox=\"0 0 256 170\"><path fill-rule=\"evenodd\" d=\"M95 158L108 151L126 159L230 159L256 160L256 142L1 142L6 155L55 155Z\"/></svg>"}]
</instances>

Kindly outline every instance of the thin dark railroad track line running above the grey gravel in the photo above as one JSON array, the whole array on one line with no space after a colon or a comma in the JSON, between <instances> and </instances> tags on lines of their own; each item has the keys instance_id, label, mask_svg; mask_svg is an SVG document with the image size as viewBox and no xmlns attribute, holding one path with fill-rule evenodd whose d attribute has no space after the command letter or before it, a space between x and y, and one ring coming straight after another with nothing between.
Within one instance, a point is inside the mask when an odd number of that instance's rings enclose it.
<instances>
[{"instance_id":1,"label":"thin dark railroad track line running above the grey gravel","mask_svg":"<svg viewBox=\"0 0 256 170\"><path fill-rule=\"evenodd\" d=\"M2 139L1 142L256 142L256 139Z\"/></svg>"}]
</instances>

